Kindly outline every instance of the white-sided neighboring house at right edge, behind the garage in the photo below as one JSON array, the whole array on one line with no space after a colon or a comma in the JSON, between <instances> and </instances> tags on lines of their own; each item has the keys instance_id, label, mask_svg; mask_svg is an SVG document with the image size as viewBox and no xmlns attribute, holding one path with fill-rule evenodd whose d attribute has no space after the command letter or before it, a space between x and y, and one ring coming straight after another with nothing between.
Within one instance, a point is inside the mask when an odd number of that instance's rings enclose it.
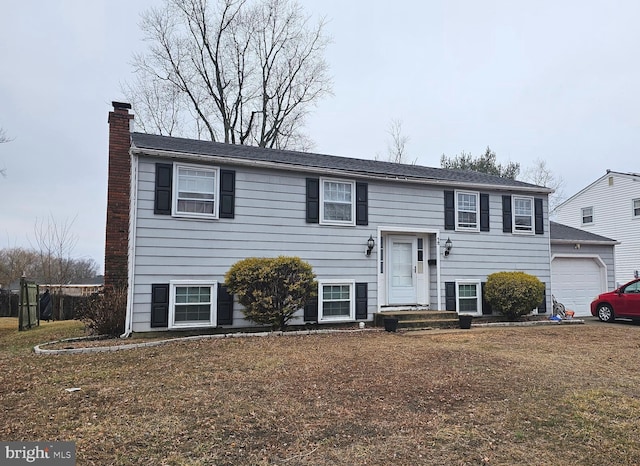
<instances>
[{"instance_id":1,"label":"white-sided neighboring house at right edge, behind the garage","mask_svg":"<svg viewBox=\"0 0 640 466\"><path fill-rule=\"evenodd\" d=\"M634 278L640 270L640 174L607 170L555 212L560 223L618 240L616 283Z\"/></svg>"}]
</instances>

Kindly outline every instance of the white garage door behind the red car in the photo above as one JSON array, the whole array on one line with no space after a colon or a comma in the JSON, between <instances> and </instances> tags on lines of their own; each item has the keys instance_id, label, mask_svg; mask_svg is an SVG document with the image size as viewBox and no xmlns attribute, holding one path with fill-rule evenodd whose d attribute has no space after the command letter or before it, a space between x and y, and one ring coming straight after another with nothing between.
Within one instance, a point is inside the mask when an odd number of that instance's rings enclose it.
<instances>
[{"instance_id":1,"label":"white garage door behind the red car","mask_svg":"<svg viewBox=\"0 0 640 466\"><path fill-rule=\"evenodd\" d=\"M576 317L591 315L593 298L607 291L603 287L602 265L589 257L555 257L551 262L551 293Z\"/></svg>"}]
</instances>

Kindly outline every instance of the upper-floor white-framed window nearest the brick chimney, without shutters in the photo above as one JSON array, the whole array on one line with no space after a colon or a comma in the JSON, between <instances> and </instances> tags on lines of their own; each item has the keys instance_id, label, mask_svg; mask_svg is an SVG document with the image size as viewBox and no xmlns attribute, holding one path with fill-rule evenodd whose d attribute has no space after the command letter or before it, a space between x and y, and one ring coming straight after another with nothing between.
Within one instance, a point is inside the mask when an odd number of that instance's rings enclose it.
<instances>
[{"instance_id":1,"label":"upper-floor white-framed window nearest the brick chimney, without shutters","mask_svg":"<svg viewBox=\"0 0 640 466\"><path fill-rule=\"evenodd\" d=\"M217 218L218 169L175 164L174 213Z\"/></svg>"}]
</instances>

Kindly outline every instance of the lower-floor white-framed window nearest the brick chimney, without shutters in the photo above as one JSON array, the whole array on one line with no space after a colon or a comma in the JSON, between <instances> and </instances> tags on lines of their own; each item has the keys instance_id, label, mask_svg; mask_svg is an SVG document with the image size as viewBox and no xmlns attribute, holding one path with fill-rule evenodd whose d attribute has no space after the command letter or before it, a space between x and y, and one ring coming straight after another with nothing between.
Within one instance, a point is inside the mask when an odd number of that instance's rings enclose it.
<instances>
[{"instance_id":1,"label":"lower-floor white-framed window nearest the brick chimney, without shutters","mask_svg":"<svg viewBox=\"0 0 640 466\"><path fill-rule=\"evenodd\" d=\"M203 327L215 325L215 282L171 282L169 325Z\"/></svg>"}]
</instances>

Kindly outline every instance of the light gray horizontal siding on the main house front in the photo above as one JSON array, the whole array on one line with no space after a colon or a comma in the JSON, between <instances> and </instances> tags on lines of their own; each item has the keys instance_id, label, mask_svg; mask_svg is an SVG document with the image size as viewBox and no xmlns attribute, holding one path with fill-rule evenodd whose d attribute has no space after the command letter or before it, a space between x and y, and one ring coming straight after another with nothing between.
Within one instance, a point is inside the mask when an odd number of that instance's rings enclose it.
<instances>
[{"instance_id":1,"label":"light gray horizontal siding on the main house front","mask_svg":"<svg viewBox=\"0 0 640 466\"><path fill-rule=\"evenodd\" d=\"M440 231L451 238L453 250L443 258L433 244L425 245L429 270L430 305L437 307L436 267L441 260L444 282L456 279L485 281L490 273L521 270L534 274L550 288L549 222L544 200L544 235L502 232L502 192L490 193L489 232L444 230L444 187L402 181L356 180L368 183L367 226L328 226L306 223L305 175L291 171L221 166L236 171L235 218L185 219L153 211L155 162L141 157L138 165L135 231L133 331L151 330L151 285L170 280L224 281L229 267L246 257L295 255L308 261L319 280L352 279L368 283L368 319L378 310L379 245L365 255L367 239L385 227L407 232ZM344 177L341 177L344 178ZM550 293L548 293L548 297ZM444 306L444 302L442 303ZM547 306L550 305L550 298ZM234 306L234 326L250 325ZM302 313L292 322L302 324Z\"/></svg>"}]
</instances>

